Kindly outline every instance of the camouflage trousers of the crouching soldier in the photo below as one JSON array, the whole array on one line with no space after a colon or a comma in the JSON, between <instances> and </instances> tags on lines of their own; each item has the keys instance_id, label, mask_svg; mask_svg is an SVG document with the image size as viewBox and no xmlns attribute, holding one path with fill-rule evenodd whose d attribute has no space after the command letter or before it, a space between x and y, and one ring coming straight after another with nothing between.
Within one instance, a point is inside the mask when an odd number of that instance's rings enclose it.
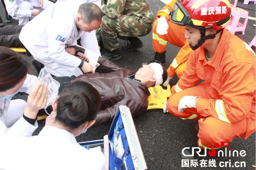
<instances>
[{"instance_id":1,"label":"camouflage trousers of the crouching soldier","mask_svg":"<svg viewBox=\"0 0 256 170\"><path fill-rule=\"evenodd\" d=\"M97 29L97 39L100 40L99 33L104 47L110 51L118 48L117 38L126 39L127 37L141 37L147 35L152 30L152 23L147 23L144 17L135 15L121 15L117 19L103 16L101 29Z\"/></svg>"}]
</instances>

